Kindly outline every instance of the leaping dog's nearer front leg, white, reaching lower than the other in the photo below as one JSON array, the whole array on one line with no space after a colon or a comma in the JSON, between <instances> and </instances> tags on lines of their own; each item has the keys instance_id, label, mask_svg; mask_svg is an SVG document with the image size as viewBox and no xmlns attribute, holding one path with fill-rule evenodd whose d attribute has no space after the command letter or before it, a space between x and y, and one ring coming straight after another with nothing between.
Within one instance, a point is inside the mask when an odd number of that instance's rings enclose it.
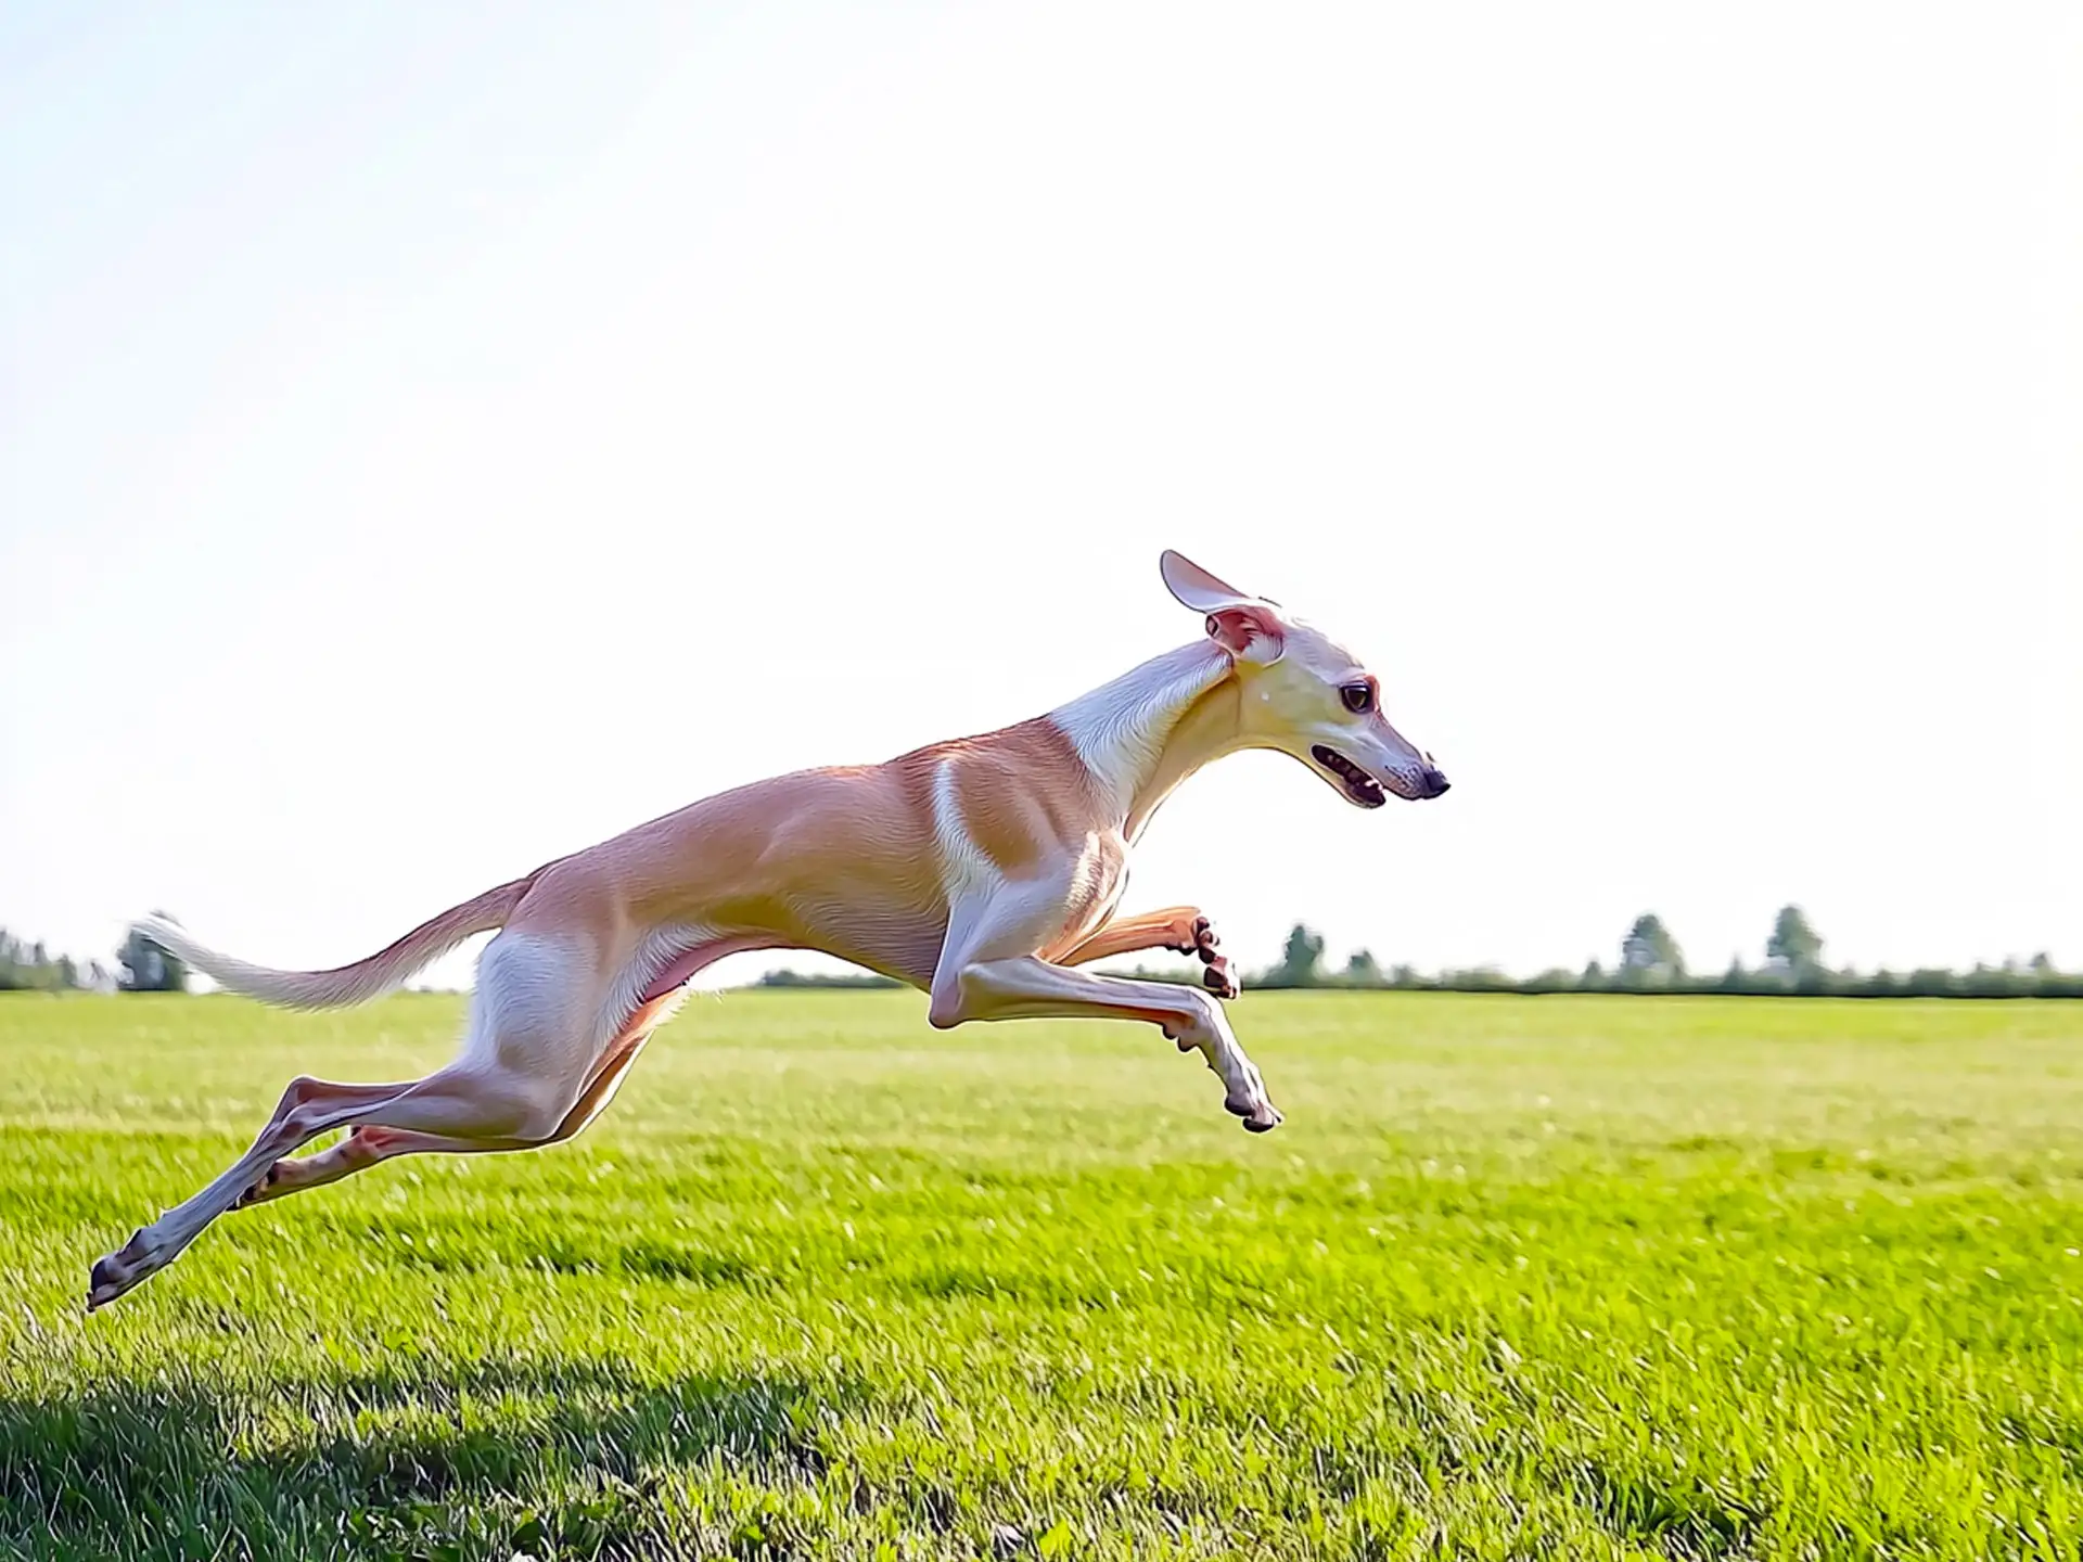
<instances>
[{"instance_id":1,"label":"leaping dog's nearer front leg, white, reaching lower than the other","mask_svg":"<svg viewBox=\"0 0 2083 1562\"><path fill-rule=\"evenodd\" d=\"M1146 946L1148 948L1148 946ZM1244 1056L1223 1006L1198 987L1069 971L1033 954L975 960L933 977L933 1025L1023 1018L1121 1018L1156 1025L1181 1052L1200 1052L1223 1081L1223 1106L1266 1133L1281 1114Z\"/></svg>"}]
</instances>

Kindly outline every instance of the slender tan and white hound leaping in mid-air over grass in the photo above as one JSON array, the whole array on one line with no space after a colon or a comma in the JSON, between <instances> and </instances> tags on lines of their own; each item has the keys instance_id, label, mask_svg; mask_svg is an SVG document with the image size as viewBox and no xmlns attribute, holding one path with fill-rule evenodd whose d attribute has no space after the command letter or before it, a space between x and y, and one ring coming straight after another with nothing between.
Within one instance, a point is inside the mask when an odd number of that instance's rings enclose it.
<instances>
[{"instance_id":1,"label":"slender tan and white hound leaping in mid-air over grass","mask_svg":"<svg viewBox=\"0 0 2083 1562\"><path fill-rule=\"evenodd\" d=\"M1294 756L1360 808L1448 789L1381 710L1381 685L1329 635L1177 552L1160 573L1206 633L1091 694L885 764L798 771L689 804L558 858L335 971L271 971L137 929L223 987L285 1008L360 1004L477 933L462 1045L392 1085L294 1079L252 1148L94 1264L87 1310L156 1275L231 1208L340 1181L392 1156L533 1150L579 1133L702 966L746 950L823 950L969 1021L1125 1018L1200 1052L1244 1127L1281 1123L1219 998L1237 983L1194 906L1116 916L1129 852L1208 760ZM1079 966L1179 950L1202 985ZM348 1137L292 1152L331 1131Z\"/></svg>"}]
</instances>

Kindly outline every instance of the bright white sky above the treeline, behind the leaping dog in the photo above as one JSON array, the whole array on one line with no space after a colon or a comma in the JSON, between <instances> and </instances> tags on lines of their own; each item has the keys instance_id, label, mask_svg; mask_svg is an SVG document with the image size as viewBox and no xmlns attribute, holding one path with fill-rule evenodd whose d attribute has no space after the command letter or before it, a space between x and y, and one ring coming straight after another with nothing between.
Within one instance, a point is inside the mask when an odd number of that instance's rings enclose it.
<instances>
[{"instance_id":1,"label":"bright white sky above the treeline, behind the leaping dog","mask_svg":"<svg viewBox=\"0 0 2083 1562\"><path fill-rule=\"evenodd\" d=\"M1189 783L1244 964L2083 966L2079 277L2075 6L15 4L0 925L337 964L1173 546L1454 779Z\"/></svg>"}]
</instances>

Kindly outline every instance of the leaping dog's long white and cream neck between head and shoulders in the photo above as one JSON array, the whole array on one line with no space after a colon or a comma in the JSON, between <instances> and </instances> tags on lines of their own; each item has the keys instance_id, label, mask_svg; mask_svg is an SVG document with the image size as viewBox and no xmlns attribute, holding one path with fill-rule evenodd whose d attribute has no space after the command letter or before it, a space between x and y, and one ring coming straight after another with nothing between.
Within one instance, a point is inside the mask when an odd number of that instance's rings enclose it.
<instances>
[{"instance_id":1,"label":"leaping dog's long white and cream neck between head and shoulders","mask_svg":"<svg viewBox=\"0 0 2083 1562\"><path fill-rule=\"evenodd\" d=\"M1050 712L1131 841L1181 781L1241 746L1233 675L1227 650L1196 639Z\"/></svg>"}]
</instances>

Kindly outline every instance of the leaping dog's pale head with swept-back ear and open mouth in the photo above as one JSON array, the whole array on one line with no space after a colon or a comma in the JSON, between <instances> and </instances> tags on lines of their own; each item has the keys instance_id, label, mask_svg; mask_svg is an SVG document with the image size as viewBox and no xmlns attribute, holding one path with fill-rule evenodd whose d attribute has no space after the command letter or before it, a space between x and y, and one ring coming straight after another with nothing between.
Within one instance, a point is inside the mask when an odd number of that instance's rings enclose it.
<instances>
[{"instance_id":1,"label":"leaping dog's pale head with swept-back ear and open mouth","mask_svg":"<svg viewBox=\"0 0 2083 1562\"><path fill-rule=\"evenodd\" d=\"M1387 791L1419 802L1446 791L1446 777L1381 710L1381 683L1360 658L1279 604L1219 581L1164 550L1164 585L1208 621L1208 637L1237 669L1241 737L1291 754L1356 808L1379 808Z\"/></svg>"}]
</instances>

